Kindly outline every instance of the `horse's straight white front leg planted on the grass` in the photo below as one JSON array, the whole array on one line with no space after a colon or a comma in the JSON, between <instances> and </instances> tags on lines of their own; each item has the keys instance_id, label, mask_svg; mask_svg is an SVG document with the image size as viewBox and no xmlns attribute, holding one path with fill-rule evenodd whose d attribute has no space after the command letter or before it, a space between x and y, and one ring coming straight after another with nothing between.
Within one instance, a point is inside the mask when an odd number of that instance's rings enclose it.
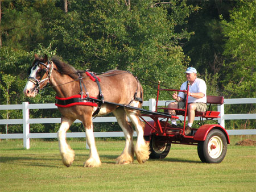
<instances>
[{"instance_id":1,"label":"horse's straight white front leg planted on the grass","mask_svg":"<svg viewBox=\"0 0 256 192\"><path fill-rule=\"evenodd\" d=\"M88 120L89 119L89 120ZM98 156L95 139L93 135L93 123L92 118L86 119L84 123L86 133L86 143L89 146L90 154L88 160L85 161L84 166L94 168L101 165L100 156Z\"/></svg>"}]
</instances>

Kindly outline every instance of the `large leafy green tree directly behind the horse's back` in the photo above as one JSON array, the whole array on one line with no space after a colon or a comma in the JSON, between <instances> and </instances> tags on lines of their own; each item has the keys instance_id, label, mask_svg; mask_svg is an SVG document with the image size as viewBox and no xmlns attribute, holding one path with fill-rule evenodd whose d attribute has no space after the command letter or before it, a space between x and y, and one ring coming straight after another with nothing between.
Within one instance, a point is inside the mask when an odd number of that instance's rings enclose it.
<instances>
[{"instance_id":1,"label":"large leafy green tree directly behind the horse's back","mask_svg":"<svg viewBox=\"0 0 256 192\"><path fill-rule=\"evenodd\" d=\"M188 65L179 40L190 34L175 31L193 10L185 2L72 1L52 28L53 44L77 68L130 70L141 80L177 87ZM151 87L144 90L147 98L155 95Z\"/></svg>"}]
</instances>

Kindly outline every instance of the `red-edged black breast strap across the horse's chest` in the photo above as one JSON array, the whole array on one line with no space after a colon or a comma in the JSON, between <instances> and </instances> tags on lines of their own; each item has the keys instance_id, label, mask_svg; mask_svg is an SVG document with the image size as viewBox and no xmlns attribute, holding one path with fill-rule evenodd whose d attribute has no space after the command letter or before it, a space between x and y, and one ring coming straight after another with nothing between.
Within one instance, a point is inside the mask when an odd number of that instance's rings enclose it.
<instances>
[{"instance_id":1,"label":"red-edged black breast strap across the horse's chest","mask_svg":"<svg viewBox=\"0 0 256 192\"><path fill-rule=\"evenodd\" d=\"M93 107L98 106L97 103L87 101L86 97L87 97L86 95L82 95L82 98L81 98L81 95L73 95L67 98L61 98L56 96L55 105L58 107L65 107L65 108L75 106L75 105L86 105L86 106L93 106Z\"/></svg>"}]
</instances>

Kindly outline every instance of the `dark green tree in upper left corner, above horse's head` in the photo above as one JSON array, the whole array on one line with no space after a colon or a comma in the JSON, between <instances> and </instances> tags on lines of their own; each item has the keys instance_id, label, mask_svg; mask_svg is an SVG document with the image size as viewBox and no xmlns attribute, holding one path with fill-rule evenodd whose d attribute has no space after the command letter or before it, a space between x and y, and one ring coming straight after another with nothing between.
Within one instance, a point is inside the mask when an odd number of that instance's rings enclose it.
<instances>
[{"instance_id":1,"label":"dark green tree in upper left corner, above horse's head","mask_svg":"<svg viewBox=\"0 0 256 192\"><path fill-rule=\"evenodd\" d=\"M61 19L63 10L52 1L1 0L2 45L24 51L32 51L37 44L49 45L52 37L49 28Z\"/></svg>"}]
</instances>

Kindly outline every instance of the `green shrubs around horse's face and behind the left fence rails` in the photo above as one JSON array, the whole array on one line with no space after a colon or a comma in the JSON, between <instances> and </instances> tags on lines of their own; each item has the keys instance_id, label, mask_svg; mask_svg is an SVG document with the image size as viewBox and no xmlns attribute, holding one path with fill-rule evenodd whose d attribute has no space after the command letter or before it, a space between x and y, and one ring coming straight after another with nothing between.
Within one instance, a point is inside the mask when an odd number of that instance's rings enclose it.
<instances>
[{"instance_id":1,"label":"green shrubs around horse's face and behind the left fence rails","mask_svg":"<svg viewBox=\"0 0 256 192\"><path fill-rule=\"evenodd\" d=\"M23 94L23 88L26 85L28 74L28 68L30 68L34 53L46 53L49 56L53 56L56 53L56 49L52 50L51 44L48 47L43 47L42 44L38 44L38 48L34 51L26 52L22 49L13 49L10 47L2 47L0 49L0 105L20 104L20 101L27 101L30 103L53 103L55 102L54 91L52 89L44 90L44 94L39 94L35 98L25 98ZM0 111L1 119L22 119L21 110L6 110ZM52 110L47 110L42 113L39 110L31 110L31 118L44 118L46 117L59 117L60 114ZM53 130L55 125L51 124L31 124L31 132L44 132ZM6 127L1 125L0 132L5 132ZM22 125L9 125L9 133L22 132Z\"/></svg>"}]
</instances>

